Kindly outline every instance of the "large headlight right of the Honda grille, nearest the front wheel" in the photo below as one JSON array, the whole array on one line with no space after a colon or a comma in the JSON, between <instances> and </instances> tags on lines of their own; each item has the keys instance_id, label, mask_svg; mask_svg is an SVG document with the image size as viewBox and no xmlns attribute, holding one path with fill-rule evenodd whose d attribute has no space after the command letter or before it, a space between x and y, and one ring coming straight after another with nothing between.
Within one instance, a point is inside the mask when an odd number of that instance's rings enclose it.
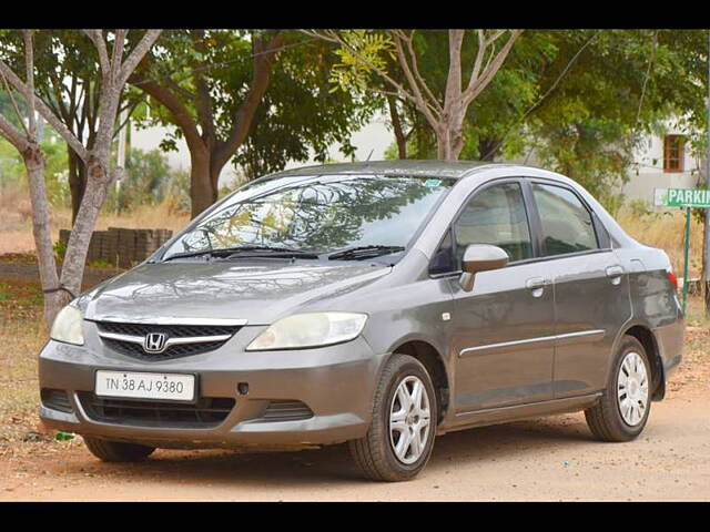
<instances>
[{"instance_id":1,"label":"large headlight right of the Honda grille, nearest the front wheel","mask_svg":"<svg viewBox=\"0 0 710 532\"><path fill-rule=\"evenodd\" d=\"M356 338L366 314L310 313L280 319L256 337L247 351L328 346Z\"/></svg>"}]
</instances>

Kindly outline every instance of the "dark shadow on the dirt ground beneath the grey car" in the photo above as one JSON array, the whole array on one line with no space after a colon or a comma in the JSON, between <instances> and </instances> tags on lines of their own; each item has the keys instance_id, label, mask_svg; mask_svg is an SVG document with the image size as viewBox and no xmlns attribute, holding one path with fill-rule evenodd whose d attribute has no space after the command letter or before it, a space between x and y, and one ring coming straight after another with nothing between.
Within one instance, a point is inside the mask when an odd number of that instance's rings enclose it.
<instances>
[{"instance_id":1,"label":"dark shadow on the dirt ground beneath the grey car","mask_svg":"<svg viewBox=\"0 0 710 532\"><path fill-rule=\"evenodd\" d=\"M427 472L436 473L452 467L467 467L489 461L529 458L541 448L572 449L589 444L591 434L584 416L544 418L532 421L499 424L452 432L437 438ZM351 460L347 446L297 452L241 453L224 450L173 451L158 450L140 463L103 463L81 449L75 461L64 462L63 473L87 472L106 480L123 482L171 482L260 488L300 487L308 484L347 484L367 482Z\"/></svg>"}]
</instances>

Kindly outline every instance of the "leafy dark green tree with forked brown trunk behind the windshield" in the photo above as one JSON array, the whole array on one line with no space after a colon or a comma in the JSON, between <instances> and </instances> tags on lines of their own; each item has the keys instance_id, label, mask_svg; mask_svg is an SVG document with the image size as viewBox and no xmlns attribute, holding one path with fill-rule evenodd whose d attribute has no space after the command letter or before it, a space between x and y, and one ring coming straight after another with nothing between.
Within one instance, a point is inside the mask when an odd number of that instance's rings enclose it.
<instances>
[{"instance_id":1,"label":"leafy dark green tree with forked brown trunk behind the windshield","mask_svg":"<svg viewBox=\"0 0 710 532\"><path fill-rule=\"evenodd\" d=\"M310 150L323 160L332 142L354 152L348 132L367 105L328 93L329 53L314 41L294 31L171 31L131 76L151 96L148 122L175 127L163 147L187 144L193 217L216 200L231 160L252 177Z\"/></svg>"}]
</instances>

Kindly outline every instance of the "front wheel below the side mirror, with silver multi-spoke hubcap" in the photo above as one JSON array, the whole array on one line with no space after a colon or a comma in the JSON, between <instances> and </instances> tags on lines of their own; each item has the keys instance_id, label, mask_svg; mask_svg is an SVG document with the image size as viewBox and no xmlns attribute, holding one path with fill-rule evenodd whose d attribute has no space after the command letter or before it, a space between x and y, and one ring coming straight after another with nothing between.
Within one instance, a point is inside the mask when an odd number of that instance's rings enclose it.
<instances>
[{"instance_id":1,"label":"front wheel below the side mirror, with silver multi-spoke hubcap","mask_svg":"<svg viewBox=\"0 0 710 532\"><path fill-rule=\"evenodd\" d=\"M410 480L424 469L434 448L438 406L432 378L416 358L395 354L375 390L367 434L348 442L371 480Z\"/></svg>"}]
</instances>

